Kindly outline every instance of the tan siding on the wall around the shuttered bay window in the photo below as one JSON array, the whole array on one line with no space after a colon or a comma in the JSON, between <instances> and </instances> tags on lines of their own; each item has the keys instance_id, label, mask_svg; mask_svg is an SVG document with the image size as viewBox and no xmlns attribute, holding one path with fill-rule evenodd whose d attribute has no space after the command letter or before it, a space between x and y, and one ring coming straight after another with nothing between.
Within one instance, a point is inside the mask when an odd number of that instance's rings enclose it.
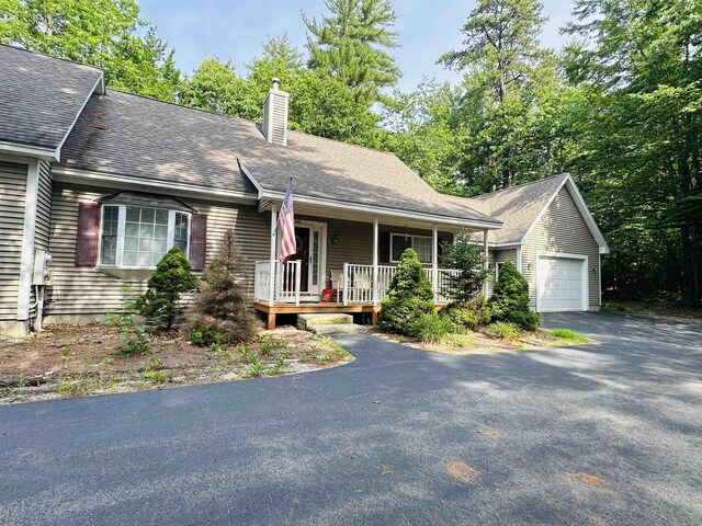
<instances>
[{"instance_id":1,"label":"tan siding on the wall around the shuttered bay window","mask_svg":"<svg viewBox=\"0 0 702 526\"><path fill-rule=\"evenodd\" d=\"M76 266L76 233L78 226L78 206L91 203L103 195L95 188L54 185L54 206L52 221L50 251L52 282L47 316L99 315L121 307L123 287L133 286L133 293L145 288L149 272L143 273L143 279L122 281L109 276L92 267ZM211 261L217 242L227 228L234 228L239 242L241 256L251 279L248 284L252 295L253 264L269 256L270 217L258 214L252 206L223 205L188 201L200 213L207 215L207 260Z\"/></svg>"}]
</instances>

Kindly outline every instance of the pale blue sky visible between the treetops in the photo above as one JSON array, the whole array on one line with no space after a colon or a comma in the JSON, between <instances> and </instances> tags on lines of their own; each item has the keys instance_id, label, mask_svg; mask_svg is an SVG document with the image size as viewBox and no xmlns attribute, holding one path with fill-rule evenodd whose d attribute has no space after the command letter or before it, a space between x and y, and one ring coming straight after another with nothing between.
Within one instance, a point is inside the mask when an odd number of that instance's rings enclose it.
<instances>
[{"instance_id":1,"label":"pale blue sky visible between the treetops","mask_svg":"<svg viewBox=\"0 0 702 526\"><path fill-rule=\"evenodd\" d=\"M559 27L570 20L573 0L547 0L548 16L542 36L545 46L561 48ZM176 48L179 68L191 72L205 57L231 58L240 75L261 52L269 36L286 33L303 48L305 25L301 12L324 13L322 0L140 0L141 15L158 35ZM461 45L460 28L474 1L395 0L396 30L401 47L393 53L404 72L403 90L414 89L423 76L455 81L458 76L437 66L442 53Z\"/></svg>"}]
</instances>

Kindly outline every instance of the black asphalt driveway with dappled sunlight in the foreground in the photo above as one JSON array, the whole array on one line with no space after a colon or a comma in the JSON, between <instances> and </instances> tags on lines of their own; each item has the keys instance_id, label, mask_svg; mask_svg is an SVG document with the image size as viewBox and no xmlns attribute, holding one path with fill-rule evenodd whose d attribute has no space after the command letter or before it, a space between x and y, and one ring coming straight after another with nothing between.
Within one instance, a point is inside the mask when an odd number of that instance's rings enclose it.
<instances>
[{"instance_id":1,"label":"black asphalt driveway with dappled sunlight in the foreground","mask_svg":"<svg viewBox=\"0 0 702 526\"><path fill-rule=\"evenodd\" d=\"M0 524L701 524L702 325L547 323L599 343L0 408Z\"/></svg>"}]
</instances>

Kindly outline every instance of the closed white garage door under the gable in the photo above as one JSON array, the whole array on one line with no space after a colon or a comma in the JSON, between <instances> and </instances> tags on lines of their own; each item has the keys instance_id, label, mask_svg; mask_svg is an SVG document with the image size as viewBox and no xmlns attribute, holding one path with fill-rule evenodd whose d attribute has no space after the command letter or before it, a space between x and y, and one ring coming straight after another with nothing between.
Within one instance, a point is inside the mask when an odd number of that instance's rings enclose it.
<instances>
[{"instance_id":1,"label":"closed white garage door under the gable","mask_svg":"<svg viewBox=\"0 0 702 526\"><path fill-rule=\"evenodd\" d=\"M587 310L585 260L541 255L536 272L540 312Z\"/></svg>"}]
</instances>

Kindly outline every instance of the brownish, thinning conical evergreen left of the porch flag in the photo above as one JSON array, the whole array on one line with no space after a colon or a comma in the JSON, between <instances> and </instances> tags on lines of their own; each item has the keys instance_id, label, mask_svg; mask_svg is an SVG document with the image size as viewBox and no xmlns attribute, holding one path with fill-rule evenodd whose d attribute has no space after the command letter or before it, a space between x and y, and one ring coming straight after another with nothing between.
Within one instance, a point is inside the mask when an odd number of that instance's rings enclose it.
<instances>
[{"instance_id":1,"label":"brownish, thinning conical evergreen left of the porch flag","mask_svg":"<svg viewBox=\"0 0 702 526\"><path fill-rule=\"evenodd\" d=\"M247 305L245 283L236 239L227 230L188 313L188 325L202 344L245 342L259 331L260 324Z\"/></svg>"}]
</instances>

